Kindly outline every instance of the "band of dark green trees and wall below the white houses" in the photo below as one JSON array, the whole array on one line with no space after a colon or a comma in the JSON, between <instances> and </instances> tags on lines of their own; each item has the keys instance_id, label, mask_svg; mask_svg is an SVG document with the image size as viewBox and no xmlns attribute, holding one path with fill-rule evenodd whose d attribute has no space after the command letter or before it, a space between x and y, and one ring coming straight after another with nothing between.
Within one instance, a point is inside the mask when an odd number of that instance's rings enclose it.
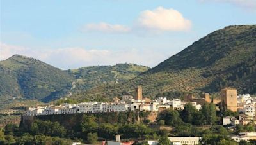
<instances>
[{"instance_id":1,"label":"band of dark green trees and wall below the white houses","mask_svg":"<svg viewBox=\"0 0 256 145\"><path fill-rule=\"evenodd\" d=\"M0 144L67 144L72 141L95 144L100 140L114 140L115 135L120 134L122 139L127 141L156 140L159 144L170 144L168 136L202 136L200 144L238 145L229 135L255 130L254 124L237 125L234 131L227 130L218 123L221 115L228 112L216 111L215 108L214 104L206 103L198 111L188 103L182 111L161 111L156 122L145 121L150 115L147 111L36 116L36 120L31 123L30 120L26 124L20 123L19 127L13 124L6 125L4 130L0 130ZM140 116L140 121L137 115ZM157 124L165 128L156 128ZM255 141L250 141L239 144L254 143Z\"/></svg>"}]
</instances>

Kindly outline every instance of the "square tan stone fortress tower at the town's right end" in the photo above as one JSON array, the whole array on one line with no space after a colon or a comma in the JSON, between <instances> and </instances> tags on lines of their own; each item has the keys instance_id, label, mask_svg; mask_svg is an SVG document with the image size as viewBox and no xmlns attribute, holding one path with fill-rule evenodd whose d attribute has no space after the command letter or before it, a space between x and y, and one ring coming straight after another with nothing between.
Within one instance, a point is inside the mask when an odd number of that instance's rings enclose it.
<instances>
[{"instance_id":1,"label":"square tan stone fortress tower at the town's right end","mask_svg":"<svg viewBox=\"0 0 256 145\"><path fill-rule=\"evenodd\" d=\"M224 88L221 90L221 101L231 111L237 111L237 90L234 88Z\"/></svg>"}]
</instances>

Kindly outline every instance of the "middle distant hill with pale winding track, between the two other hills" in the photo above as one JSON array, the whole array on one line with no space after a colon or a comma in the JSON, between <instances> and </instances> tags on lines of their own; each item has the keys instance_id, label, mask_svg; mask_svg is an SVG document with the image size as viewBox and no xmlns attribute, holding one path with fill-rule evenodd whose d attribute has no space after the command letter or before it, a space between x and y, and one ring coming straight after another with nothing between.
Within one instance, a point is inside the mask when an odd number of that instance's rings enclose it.
<instances>
[{"instance_id":1,"label":"middle distant hill with pale winding track, between the two other hills","mask_svg":"<svg viewBox=\"0 0 256 145\"><path fill-rule=\"evenodd\" d=\"M149 67L136 64L116 64L115 66L90 66L68 70L76 78L72 92L83 92L95 86L123 83L145 72Z\"/></svg>"}]
</instances>

